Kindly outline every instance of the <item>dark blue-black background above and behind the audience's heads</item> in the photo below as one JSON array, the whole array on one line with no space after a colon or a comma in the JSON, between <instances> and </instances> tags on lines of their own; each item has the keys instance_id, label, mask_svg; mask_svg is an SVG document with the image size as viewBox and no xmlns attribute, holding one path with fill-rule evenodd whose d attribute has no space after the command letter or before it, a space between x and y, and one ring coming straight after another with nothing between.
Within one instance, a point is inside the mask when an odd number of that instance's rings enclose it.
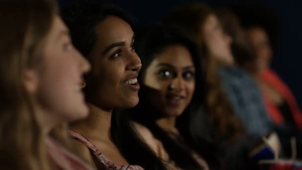
<instances>
[{"instance_id":1,"label":"dark blue-black background above and behind the audience's heads","mask_svg":"<svg viewBox=\"0 0 302 170\"><path fill-rule=\"evenodd\" d=\"M59 0L62 7L80 2L101 0ZM173 6L198 0L107 0L133 14L139 25L159 22ZM274 47L272 68L291 87L302 107L301 42L302 19L299 1L277 0L199 0L212 6L229 6L242 23L259 22L268 31ZM253 18L254 20L251 20Z\"/></svg>"}]
</instances>

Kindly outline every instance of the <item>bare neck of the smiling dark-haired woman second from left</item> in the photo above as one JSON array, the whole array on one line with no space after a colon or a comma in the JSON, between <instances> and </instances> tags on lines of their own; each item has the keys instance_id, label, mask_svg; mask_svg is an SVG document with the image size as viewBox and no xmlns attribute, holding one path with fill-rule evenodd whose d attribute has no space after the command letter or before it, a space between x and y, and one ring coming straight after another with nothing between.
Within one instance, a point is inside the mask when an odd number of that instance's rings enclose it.
<instances>
[{"instance_id":1,"label":"bare neck of the smiling dark-haired woman second from left","mask_svg":"<svg viewBox=\"0 0 302 170\"><path fill-rule=\"evenodd\" d=\"M72 124L71 129L90 139L111 141L110 127L112 110L103 110L88 103L89 116Z\"/></svg>"}]
</instances>

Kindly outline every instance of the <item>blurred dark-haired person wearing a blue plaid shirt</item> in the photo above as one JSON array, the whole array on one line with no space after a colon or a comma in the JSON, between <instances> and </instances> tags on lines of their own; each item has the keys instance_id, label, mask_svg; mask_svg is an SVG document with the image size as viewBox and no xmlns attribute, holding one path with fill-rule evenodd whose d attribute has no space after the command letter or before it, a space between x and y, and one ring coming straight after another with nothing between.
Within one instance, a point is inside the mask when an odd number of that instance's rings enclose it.
<instances>
[{"instance_id":1,"label":"blurred dark-haired person wearing a blue plaid shirt","mask_svg":"<svg viewBox=\"0 0 302 170\"><path fill-rule=\"evenodd\" d=\"M250 124L249 135L265 136L272 130L273 122L267 114L257 83L240 67L245 64L245 61L253 58L252 48L237 16L230 9L217 8L216 13L225 33L232 38L230 50L234 58L232 65L226 65L220 71L222 86L232 101L236 113L244 122Z\"/></svg>"}]
</instances>

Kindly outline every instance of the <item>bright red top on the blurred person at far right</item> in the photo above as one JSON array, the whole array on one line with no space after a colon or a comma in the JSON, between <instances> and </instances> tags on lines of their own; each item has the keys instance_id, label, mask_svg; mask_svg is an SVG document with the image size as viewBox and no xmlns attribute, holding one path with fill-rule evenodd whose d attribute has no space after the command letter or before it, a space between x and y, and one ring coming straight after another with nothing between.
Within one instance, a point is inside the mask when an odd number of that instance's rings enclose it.
<instances>
[{"instance_id":1,"label":"bright red top on the blurred person at far right","mask_svg":"<svg viewBox=\"0 0 302 170\"><path fill-rule=\"evenodd\" d=\"M272 70L264 71L261 74L261 80L267 83L268 85L272 86L275 90L277 90L282 95L285 102L287 102L287 104L290 107L296 127L300 131L302 131L302 112L290 88ZM267 96L264 96L264 101L266 104L267 111L269 112L273 121L276 124L284 124L285 119L281 111L278 109L278 107Z\"/></svg>"}]
</instances>

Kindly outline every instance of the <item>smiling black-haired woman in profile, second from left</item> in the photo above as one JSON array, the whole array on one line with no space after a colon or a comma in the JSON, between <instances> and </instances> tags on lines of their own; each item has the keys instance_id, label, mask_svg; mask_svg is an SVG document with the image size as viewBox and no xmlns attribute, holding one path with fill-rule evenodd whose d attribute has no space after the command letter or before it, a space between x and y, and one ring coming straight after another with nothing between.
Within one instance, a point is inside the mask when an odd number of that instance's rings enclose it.
<instances>
[{"instance_id":1,"label":"smiling black-haired woman in profile, second from left","mask_svg":"<svg viewBox=\"0 0 302 170\"><path fill-rule=\"evenodd\" d=\"M90 115L71 127L81 156L99 169L165 170L126 115L116 111L139 102L137 77L142 65L133 48L130 17L100 4L73 5L62 14L75 47L92 66L84 77Z\"/></svg>"}]
</instances>

